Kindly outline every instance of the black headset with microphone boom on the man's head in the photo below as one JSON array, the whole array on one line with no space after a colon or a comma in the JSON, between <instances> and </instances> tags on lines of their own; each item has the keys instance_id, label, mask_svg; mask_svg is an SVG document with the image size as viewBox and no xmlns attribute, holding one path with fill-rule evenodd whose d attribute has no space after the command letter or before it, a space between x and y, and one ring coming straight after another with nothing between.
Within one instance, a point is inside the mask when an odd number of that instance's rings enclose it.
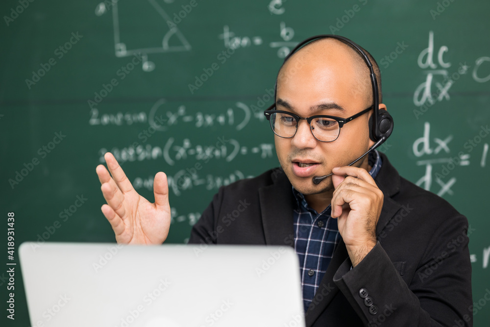
<instances>
[{"instance_id":1,"label":"black headset with microphone boom on the man's head","mask_svg":"<svg viewBox=\"0 0 490 327\"><path fill-rule=\"evenodd\" d=\"M388 111L379 110L378 83L377 83L376 75L374 74L374 69L373 69L372 63L369 60L368 55L356 43L352 42L351 40L349 40L343 36L333 35L333 34L321 34L321 35L315 35L315 36L309 37L306 40L301 41L296 47L294 47L293 50L291 50L291 52L284 58L283 65L286 63L286 61L288 61L288 59L295 52L297 52L299 49L301 49L305 45L307 45L313 41L316 41L319 39L325 39L325 38L333 38L333 39L341 40L341 41L351 45L352 47L354 47L361 54L362 58L364 59L364 61L368 65L369 72L370 72L370 78L371 78L371 84L372 84L372 98L373 98L373 102L374 102L373 103L373 111L374 112L371 115L371 117L369 118L369 123L368 123L368 125L369 125L369 138L376 143L371 148L369 148L369 150L366 153L364 153L362 156L360 156L359 158L357 158L355 161L351 162L348 165L348 166L351 166L354 163L356 163L357 161L361 160L361 158L363 158L366 154L368 154L369 152L371 152L374 149L376 149L377 147L379 147L383 142L385 142L388 139L388 137L390 137L390 135L392 134L392 131L393 131L393 118L390 115L390 113L388 113ZM281 66L281 68L282 68L282 66ZM277 82L275 85L274 101L275 101L276 96L277 96ZM274 106L275 106L275 103L273 105L271 105L267 110L271 110ZM325 175L325 176L315 176L315 177L313 177L313 183L319 184L323 179L325 179L331 175L333 175L333 173L331 173L329 175Z\"/></svg>"}]
</instances>

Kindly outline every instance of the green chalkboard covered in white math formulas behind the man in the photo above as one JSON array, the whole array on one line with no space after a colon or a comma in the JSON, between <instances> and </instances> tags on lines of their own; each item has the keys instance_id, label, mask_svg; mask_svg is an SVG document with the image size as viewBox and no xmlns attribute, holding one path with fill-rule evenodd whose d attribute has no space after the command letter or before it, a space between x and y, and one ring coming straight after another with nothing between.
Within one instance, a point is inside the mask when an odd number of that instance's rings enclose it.
<instances>
[{"instance_id":1,"label":"green chalkboard covered in white math formulas behind the man","mask_svg":"<svg viewBox=\"0 0 490 327\"><path fill-rule=\"evenodd\" d=\"M15 249L114 241L95 173L105 151L150 201L154 175L168 174L168 242L186 242L221 185L278 165L261 111L282 58L335 33L382 70L395 129L381 151L467 216L473 297L487 303L489 11L483 0L2 1L0 207L4 222L15 213ZM20 272L5 318L5 276L2 326L28 326Z\"/></svg>"}]
</instances>

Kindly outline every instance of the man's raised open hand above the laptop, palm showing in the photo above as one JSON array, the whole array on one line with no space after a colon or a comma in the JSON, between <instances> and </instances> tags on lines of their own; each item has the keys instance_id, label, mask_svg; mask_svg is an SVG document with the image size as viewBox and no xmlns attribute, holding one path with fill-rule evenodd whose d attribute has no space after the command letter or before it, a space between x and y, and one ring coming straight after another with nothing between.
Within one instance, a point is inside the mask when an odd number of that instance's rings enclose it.
<instances>
[{"instance_id":1,"label":"man's raised open hand above the laptop, palm showing","mask_svg":"<svg viewBox=\"0 0 490 327\"><path fill-rule=\"evenodd\" d=\"M162 244L170 229L169 185L167 175L159 172L153 181L155 203L140 196L112 153L104 155L104 165L97 166L100 189L107 201L101 210L123 244ZM112 175L112 177L111 177Z\"/></svg>"}]
</instances>

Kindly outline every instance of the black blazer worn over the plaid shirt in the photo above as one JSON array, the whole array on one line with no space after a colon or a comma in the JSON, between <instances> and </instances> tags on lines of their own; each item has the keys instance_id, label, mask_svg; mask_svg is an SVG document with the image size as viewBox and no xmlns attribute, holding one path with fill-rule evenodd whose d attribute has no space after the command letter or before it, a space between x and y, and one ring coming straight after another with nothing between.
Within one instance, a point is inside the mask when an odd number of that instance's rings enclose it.
<instances>
[{"instance_id":1,"label":"black blazer worn over the plaid shirt","mask_svg":"<svg viewBox=\"0 0 490 327\"><path fill-rule=\"evenodd\" d=\"M400 177L381 155L375 178L384 193L378 242L350 270L340 241L305 314L306 325L472 326L466 218ZM189 243L294 247L293 203L281 169L221 187Z\"/></svg>"}]
</instances>

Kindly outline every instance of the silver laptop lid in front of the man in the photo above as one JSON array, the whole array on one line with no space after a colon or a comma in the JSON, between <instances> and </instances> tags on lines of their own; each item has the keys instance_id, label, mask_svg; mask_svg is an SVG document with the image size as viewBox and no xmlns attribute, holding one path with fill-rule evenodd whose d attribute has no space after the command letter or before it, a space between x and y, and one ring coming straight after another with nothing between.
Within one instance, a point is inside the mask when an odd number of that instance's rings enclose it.
<instances>
[{"instance_id":1,"label":"silver laptop lid in front of the man","mask_svg":"<svg viewBox=\"0 0 490 327\"><path fill-rule=\"evenodd\" d=\"M31 326L305 326L289 247L25 242L20 259Z\"/></svg>"}]
</instances>

